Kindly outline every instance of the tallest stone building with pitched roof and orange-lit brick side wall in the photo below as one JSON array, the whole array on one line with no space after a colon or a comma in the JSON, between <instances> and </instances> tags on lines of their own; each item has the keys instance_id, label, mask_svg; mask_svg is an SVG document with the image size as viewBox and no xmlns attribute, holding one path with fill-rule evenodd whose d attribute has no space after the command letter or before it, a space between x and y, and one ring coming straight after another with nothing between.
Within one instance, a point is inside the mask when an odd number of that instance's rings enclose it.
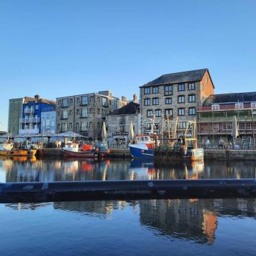
<instances>
[{"instance_id":1,"label":"tallest stone building with pitched roof and orange-lit brick side wall","mask_svg":"<svg viewBox=\"0 0 256 256\"><path fill-rule=\"evenodd\" d=\"M207 68L165 74L140 86L141 132L159 131L159 124L166 129L169 116L170 128L184 132L189 120L197 120L196 111L209 95L214 94L214 84Z\"/></svg>"}]
</instances>

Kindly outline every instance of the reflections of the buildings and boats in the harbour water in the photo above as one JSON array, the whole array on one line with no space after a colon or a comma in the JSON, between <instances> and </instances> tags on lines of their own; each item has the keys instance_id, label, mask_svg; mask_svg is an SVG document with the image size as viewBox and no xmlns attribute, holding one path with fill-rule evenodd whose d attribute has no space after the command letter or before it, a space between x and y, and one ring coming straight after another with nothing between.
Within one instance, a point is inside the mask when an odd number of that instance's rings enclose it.
<instances>
[{"instance_id":1,"label":"reflections of the buildings and boats in the harbour water","mask_svg":"<svg viewBox=\"0 0 256 256\"><path fill-rule=\"evenodd\" d=\"M145 161L113 159L0 159L3 182L52 182L61 180L138 180L138 179L255 179L255 163L208 162L159 166ZM54 202L54 209L107 218L114 210L132 207L140 223L156 236L214 243L220 216L256 218L255 199L140 200L97 202ZM49 204L6 204L12 209L38 209Z\"/></svg>"}]
</instances>

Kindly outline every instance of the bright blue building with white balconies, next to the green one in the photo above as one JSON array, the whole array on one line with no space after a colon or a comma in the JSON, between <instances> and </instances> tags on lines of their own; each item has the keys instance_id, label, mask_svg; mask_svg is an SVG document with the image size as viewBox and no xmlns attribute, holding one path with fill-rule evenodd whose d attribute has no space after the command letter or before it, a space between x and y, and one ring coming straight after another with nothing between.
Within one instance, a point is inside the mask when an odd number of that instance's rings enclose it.
<instances>
[{"instance_id":1,"label":"bright blue building with white balconies, next to the green one","mask_svg":"<svg viewBox=\"0 0 256 256\"><path fill-rule=\"evenodd\" d=\"M42 113L45 112L45 109L54 111L55 108L56 102L54 100L40 99L39 95L35 95L35 98L30 98L28 102L22 105L19 134L41 133Z\"/></svg>"}]
</instances>

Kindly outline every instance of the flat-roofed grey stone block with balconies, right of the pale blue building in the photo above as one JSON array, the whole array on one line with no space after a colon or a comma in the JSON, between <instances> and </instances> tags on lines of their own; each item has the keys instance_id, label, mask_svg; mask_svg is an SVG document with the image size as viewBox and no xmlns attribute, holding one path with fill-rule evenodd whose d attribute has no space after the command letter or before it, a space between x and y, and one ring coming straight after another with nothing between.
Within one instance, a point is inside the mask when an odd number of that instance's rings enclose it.
<instances>
[{"instance_id":1,"label":"flat-roofed grey stone block with balconies, right of the pale blue building","mask_svg":"<svg viewBox=\"0 0 256 256\"><path fill-rule=\"evenodd\" d=\"M56 131L73 131L88 138L101 138L106 115L129 102L125 97L113 97L112 91L86 93L56 99Z\"/></svg>"}]
</instances>

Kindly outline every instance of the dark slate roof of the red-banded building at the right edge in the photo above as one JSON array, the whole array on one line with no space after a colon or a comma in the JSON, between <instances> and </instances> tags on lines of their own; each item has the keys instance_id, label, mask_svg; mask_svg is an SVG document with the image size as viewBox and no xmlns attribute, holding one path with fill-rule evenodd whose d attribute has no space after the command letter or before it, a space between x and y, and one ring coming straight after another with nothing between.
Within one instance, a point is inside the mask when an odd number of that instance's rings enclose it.
<instances>
[{"instance_id":1,"label":"dark slate roof of the red-banded building at the right edge","mask_svg":"<svg viewBox=\"0 0 256 256\"><path fill-rule=\"evenodd\" d=\"M234 102L256 102L256 92L223 93L210 95L203 106Z\"/></svg>"}]
</instances>

